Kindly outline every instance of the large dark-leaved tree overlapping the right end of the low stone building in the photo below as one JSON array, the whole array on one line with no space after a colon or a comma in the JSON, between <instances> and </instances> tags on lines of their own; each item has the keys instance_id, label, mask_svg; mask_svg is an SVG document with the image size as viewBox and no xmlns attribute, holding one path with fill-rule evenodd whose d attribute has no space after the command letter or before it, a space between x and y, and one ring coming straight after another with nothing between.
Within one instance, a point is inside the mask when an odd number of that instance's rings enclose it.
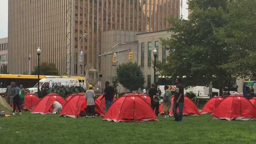
<instances>
[{"instance_id":1,"label":"large dark-leaved tree overlapping the right end of the low stone building","mask_svg":"<svg viewBox=\"0 0 256 144\"><path fill-rule=\"evenodd\" d=\"M214 2L212 2L214 1ZM208 85L222 89L230 80L228 63L230 49L219 43L215 30L225 26L228 0L190 0L189 20L170 18L170 39L162 39L172 53L166 63L158 63L163 75L184 77L186 86Z\"/></svg>"}]
</instances>

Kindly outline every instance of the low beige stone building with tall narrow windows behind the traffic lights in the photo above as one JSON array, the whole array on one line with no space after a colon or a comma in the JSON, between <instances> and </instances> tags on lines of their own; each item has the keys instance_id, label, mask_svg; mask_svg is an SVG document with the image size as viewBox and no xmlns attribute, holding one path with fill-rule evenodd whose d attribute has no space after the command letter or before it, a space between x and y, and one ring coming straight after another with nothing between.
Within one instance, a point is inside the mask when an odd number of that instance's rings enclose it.
<instances>
[{"instance_id":1,"label":"low beige stone building with tall narrow windows behind the traffic lights","mask_svg":"<svg viewBox=\"0 0 256 144\"><path fill-rule=\"evenodd\" d=\"M158 50L157 61L166 61L166 56L169 55L169 51L166 50L165 45L162 45L161 38L170 38L171 33L167 30L162 30L158 32L146 32L146 33L131 33L127 31L108 31L102 33L102 52L105 54L100 55L100 73L102 73L102 84L105 81L112 82L111 77L116 76L116 67L122 63L127 63L128 52L133 52L132 62L138 63L140 65L142 72L144 74L145 84L144 86L150 86L154 83L154 69L153 69L153 50L156 47ZM103 40L104 39L104 40ZM114 49L106 45L113 45L113 43L125 42L125 44L120 44ZM112 51L116 52L117 65L112 65ZM160 73L156 73L159 75ZM158 77L158 76L157 76ZM104 87L104 86L103 86ZM118 91L126 92L123 87L118 87Z\"/></svg>"}]
</instances>

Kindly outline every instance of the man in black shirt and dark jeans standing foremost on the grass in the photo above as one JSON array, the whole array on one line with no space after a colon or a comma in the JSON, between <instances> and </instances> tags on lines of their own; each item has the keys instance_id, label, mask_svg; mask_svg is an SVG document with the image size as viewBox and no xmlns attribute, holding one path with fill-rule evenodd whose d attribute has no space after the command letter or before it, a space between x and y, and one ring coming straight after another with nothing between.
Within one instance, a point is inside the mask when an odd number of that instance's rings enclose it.
<instances>
[{"instance_id":1,"label":"man in black shirt and dark jeans standing foremost on the grass","mask_svg":"<svg viewBox=\"0 0 256 144\"><path fill-rule=\"evenodd\" d=\"M184 87L181 84L181 79L178 77L175 81L176 89L175 89L175 95L174 95L174 101L173 101L173 107L172 111L174 114L175 121L181 121L182 120L182 114L183 114L183 103L184 103ZM177 108L179 107L179 115L177 114Z\"/></svg>"}]
</instances>

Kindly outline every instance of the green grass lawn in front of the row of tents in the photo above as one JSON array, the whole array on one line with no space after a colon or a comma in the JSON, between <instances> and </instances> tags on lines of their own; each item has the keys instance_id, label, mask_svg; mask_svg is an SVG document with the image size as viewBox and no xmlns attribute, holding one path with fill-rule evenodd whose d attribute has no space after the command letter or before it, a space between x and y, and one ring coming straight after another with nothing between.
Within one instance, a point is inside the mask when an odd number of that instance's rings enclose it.
<instances>
[{"instance_id":1,"label":"green grass lawn in front of the row of tents","mask_svg":"<svg viewBox=\"0 0 256 144\"><path fill-rule=\"evenodd\" d=\"M255 144L256 121L185 116L182 122L115 123L24 112L0 117L0 144Z\"/></svg>"}]
</instances>

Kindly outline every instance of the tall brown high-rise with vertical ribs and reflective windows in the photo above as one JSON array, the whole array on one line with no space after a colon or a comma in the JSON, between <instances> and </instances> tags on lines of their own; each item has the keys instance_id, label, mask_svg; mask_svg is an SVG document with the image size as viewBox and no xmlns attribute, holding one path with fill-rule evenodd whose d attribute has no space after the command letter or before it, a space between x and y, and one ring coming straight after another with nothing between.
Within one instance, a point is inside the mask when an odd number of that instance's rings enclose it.
<instances>
[{"instance_id":1,"label":"tall brown high-rise with vertical ribs and reflective windows","mask_svg":"<svg viewBox=\"0 0 256 144\"><path fill-rule=\"evenodd\" d=\"M32 71L37 47L41 62L56 63L62 75L84 74L88 65L100 69L98 55L118 42L102 49L102 32L166 30L168 17L179 14L180 0L9 0L8 52L15 60L8 71Z\"/></svg>"}]
</instances>

